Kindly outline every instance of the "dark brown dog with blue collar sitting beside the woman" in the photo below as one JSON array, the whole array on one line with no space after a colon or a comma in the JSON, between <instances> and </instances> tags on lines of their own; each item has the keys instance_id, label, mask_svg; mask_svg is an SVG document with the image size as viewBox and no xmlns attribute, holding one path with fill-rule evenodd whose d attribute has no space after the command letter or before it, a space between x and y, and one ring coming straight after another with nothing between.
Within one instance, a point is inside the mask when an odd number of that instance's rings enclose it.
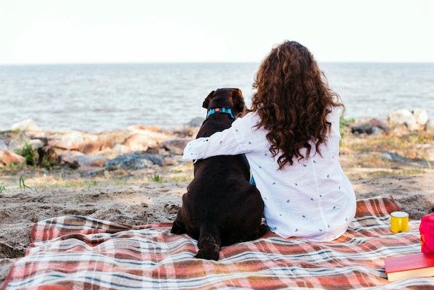
<instances>
[{"instance_id":1,"label":"dark brown dog with blue collar sitting beside the woman","mask_svg":"<svg viewBox=\"0 0 434 290\"><path fill-rule=\"evenodd\" d=\"M197 137L229 128L245 108L241 91L229 88L212 91L202 106L208 114ZM209 157L194 164L194 178L182 196L171 232L198 240L195 257L218 260L221 246L257 239L267 232L266 225L261 225L261 195L249 179L244 155Z\"/></svg>"}]
</instances>

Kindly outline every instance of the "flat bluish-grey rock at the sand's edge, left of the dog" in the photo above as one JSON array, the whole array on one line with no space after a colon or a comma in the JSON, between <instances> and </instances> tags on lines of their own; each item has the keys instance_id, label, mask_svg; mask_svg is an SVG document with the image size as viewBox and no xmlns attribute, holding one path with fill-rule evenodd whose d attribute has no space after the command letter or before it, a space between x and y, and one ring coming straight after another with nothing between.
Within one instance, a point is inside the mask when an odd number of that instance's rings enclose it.
<instances>
[{"instance_id":1,"label":"flat bluish-grey rock at the sand's edge, left of the dog","mask_svg":"<svg viewBox=\"0 0 434 290\"><path fill-rule=\"evenodd\" d=\"M155 164L162 166L162 157L147 153L134 152L132 154L120 155L112 160L108 160L105 162L104 167L107 169L116 169L117 167L123 169L141 169L152 167Z\"/></svg>"}]
</instances>

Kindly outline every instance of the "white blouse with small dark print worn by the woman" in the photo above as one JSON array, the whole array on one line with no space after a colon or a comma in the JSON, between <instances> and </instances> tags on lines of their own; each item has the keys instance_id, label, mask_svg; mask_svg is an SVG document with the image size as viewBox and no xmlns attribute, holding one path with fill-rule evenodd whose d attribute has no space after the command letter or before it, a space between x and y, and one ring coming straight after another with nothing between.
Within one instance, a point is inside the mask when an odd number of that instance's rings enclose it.
<instances>
[{"instance_id":1,"label":"white blouse with small dark print worn by the woman","mask_svg":"<svg viewBox=\"0 0 434 290\"><path fill-rule=\"evenodd\" d=\"M282 170L270 153L267 131L254 127L259 122L255 112L236 119L223 132L189 142L183 157L198 160L244 153L265 203L270 230L284 238L331 241L347 230L356 214L354 189L338 160L339 113L329 114L331 133L327 146L320 146L322 155L315 154L312 146L309 158L294 160Z\"/></svg>"}]
</instances>

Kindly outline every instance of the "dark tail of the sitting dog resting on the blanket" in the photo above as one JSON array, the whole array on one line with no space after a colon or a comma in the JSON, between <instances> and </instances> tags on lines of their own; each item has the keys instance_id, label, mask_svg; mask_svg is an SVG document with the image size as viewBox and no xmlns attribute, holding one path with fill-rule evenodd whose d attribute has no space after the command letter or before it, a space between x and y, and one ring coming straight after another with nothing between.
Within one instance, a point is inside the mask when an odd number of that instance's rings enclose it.
<instances>
[{"instance_id":1,"label":"dark tail of the sitting dog resting on the blanket","mask_svg":"<svg viewBox=\"0 0 434 290\"><path fill-rule=\"evenodd\" d=\"M221 248L220 230L216 225L207 223L200 228L200 236L198 239L199 251L196 258L218 260L218 255Z\"/></svg>"}]
</instances>

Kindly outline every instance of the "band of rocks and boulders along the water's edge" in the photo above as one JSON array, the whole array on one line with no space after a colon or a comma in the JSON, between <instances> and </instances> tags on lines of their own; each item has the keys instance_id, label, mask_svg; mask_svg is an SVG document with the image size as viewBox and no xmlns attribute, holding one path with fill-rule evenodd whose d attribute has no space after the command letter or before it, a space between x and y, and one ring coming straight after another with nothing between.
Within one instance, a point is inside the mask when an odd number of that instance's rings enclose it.
<instances>
[{"instance_id":1,"label":"band of rocks and boulders along the water's edge","mask_svg":"<svg viewBox=\"0 0 434 290\"><path fill-rule=\"evenodd\" d=\"M156 127L130 126L127 130L104 133L47 132L31 119L0 132L0 168L13 164L29 164L50 169L67 166L71 169L103 171L143 169L173 165L187 142L196 137L203 119L196 118L176 130ZM371 119L350 125L353 134L388 133L390 128L424 130L434 133L434 122L426 110L397 110L388 120Z\"/></svg>"}]
</instances>

